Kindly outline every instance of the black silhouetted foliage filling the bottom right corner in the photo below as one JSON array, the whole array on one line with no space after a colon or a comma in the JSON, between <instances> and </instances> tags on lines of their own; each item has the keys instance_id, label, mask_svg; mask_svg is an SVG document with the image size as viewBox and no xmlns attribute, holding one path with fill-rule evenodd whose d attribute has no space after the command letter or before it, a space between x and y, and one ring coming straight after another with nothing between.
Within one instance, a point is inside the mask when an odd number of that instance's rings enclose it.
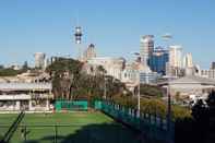
<instances>
[{"instance_id":1,"label":"black silhouetted foliage filling the bottom right corner","mask_svg":"<svg viewBox=\"0 0 215 143\"><path fill-rule=\"evenodd\" d=\"M215 141L215 92L205 102L199 100L192 107L192 118L176 123L178 143L214 143ZM186 140L184 140L186 139Z\"/></svg>"}]
</instances>

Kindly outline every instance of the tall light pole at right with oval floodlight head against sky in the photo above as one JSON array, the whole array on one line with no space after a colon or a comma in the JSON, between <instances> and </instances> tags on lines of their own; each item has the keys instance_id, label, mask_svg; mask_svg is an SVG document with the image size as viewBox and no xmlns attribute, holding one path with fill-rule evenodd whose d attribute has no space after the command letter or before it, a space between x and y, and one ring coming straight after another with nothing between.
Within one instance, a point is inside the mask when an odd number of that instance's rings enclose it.
<instances>
[{"instance_id":1,"label":"tall light pole at right with oval floodlight head against sky","mask_svg":"<svg viewBox=\"0 0 215 143\"><path fill-rule=\"evenodd\" d=\"M165 41L169 41L172 36L170 34L165 34L162 36ZM168 45L167 45L168 47ZM170 65L168 67L170 68ZM169 69L168 69L169 70ZM170 96L170 74L168 75L168 86L167 86L167 130L169 134L169 143L171 143L171 96Z\"/></svg>"}]
</instances>

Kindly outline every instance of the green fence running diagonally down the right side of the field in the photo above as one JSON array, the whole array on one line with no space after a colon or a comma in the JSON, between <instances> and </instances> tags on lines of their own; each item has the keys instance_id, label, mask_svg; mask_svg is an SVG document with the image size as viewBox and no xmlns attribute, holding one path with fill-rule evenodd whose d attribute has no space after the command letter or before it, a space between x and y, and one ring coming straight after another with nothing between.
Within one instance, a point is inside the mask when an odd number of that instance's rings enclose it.
<instances>
[{"instance_id":1,"label":"green fence running diagonally down the right side of the field","mask_svg":"<svg viewBox=\"0 0 215 143\"><path fill-rule=\"evenodd\" d=\"M135 109L109 102L103 102L100 110L112 118L140 130L148 139L163 142L175 141L175 123L170 122L171 132L169 133L166 118L147 112L140 112L139 117Z\"/></svg>"}]
</instances>

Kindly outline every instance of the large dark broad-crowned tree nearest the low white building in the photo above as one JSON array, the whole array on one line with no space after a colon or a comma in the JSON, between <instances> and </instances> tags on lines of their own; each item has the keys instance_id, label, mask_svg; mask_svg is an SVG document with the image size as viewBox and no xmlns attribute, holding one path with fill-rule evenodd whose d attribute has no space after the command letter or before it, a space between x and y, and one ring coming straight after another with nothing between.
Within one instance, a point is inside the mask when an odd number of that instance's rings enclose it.
<instances>
[{"instance_id":1,"label":"large dark broad-crowned tree nearest the low white building","mask_svg":"<svg viewBox=\"0 0 215 143\"><path fill-rule=\"evenodd\" d=\"M53 95L56 99L71 99L72 88L76 87L80 80L82 63L73 60L59 58L50 64L46 71L52 78Z\"/></svg>"}]
</instances>

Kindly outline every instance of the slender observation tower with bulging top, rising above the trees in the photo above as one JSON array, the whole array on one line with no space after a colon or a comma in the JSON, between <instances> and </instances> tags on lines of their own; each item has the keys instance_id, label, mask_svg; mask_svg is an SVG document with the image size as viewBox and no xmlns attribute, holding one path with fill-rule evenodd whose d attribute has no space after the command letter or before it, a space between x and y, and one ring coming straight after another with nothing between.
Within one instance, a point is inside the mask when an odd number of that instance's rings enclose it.
<instances>
[{"instance_id":1,"label":"slender observation tower with bulging top, rising above the trees","mask_svg":"<svg viewBox=\"0 0 215 143\"><path fill-rule=\"evenodd\" d=\"M81 61L82 60L82 49L81 49L81 44L82 44L82 28L81 26L76 26L75 27L75 33L74 33L74 37L75 37L75 44L76 44L76 48L79 50L79 56L77 59Z\"/></svg>"}]
</instances>

